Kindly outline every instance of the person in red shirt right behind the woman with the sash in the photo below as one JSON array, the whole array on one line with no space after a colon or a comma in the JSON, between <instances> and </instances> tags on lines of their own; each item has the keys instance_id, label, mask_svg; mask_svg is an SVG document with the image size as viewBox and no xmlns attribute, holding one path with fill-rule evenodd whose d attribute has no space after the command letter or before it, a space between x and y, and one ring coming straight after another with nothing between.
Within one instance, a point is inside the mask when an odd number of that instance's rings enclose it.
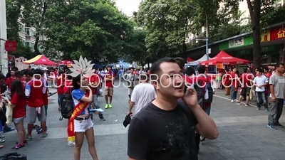
<instances>
[{"instance_id":1,"label":"person in red shirt right behind the woman with the sash","mask_svg":"<svg viewBox=\"0 0 285 160\"><path fill-rule=\"evenodd\" d=\"M94 70L93 75L88 79L89 79L88 80L89 86L91 88L92 95L93 95L92 107L99 109L100 105L98 102L98 90L97 90L97 88L99 87L100 75L96 74L96 70ZM101 112L99 113L99 119L102 121L105 121L105 118L103 117L103 114Z\"/></svg>"}]
</instances>

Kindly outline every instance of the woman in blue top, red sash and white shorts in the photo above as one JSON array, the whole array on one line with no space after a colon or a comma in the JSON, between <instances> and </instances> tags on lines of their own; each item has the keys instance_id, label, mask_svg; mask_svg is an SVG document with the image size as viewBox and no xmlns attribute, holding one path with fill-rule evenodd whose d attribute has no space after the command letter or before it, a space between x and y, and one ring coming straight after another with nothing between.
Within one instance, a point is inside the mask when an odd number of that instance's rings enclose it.
<instances>
[{"instance_id":1,"label":"woman in blue top, red sash and white shorts","mask_svg":"<svg viewBox=\"0 0 285 160\"><path fill-rule=\"evenodd\" d=\"M75 134L74 159L81 159L81 148L85 136L92 159L98 160L95 149L93 122L90 119L90 112L88 110L88 105L93 101L92 91L88 87L87 79L83 75L73 78L72 85L71 97L73 99L74 110L71 119L68 120L68 132Z\"/></svg>"}]
</instances>

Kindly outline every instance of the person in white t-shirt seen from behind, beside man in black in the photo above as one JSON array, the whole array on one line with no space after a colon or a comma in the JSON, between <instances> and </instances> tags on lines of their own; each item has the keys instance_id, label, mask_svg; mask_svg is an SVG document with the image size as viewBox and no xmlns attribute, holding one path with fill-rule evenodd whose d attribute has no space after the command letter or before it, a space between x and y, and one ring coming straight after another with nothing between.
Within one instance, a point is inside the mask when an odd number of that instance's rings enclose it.
<instances>
[{"instance_id":1,"label":"person in white t-shirt seen from behind, beside man in black","mask_svg":"<svg viewBox=\"0 0 285 160\"><path fill-rule=\"evenodd\" d=\"M147 73L140 73L139 76L140 84L136 85L133 90L128 115L133 114L135 116L146 104L155 100L156 97L155 88L148 83L149 76ZM134 112L132 112L133 108L135 108Z\"/></svg>"}]
</instances>

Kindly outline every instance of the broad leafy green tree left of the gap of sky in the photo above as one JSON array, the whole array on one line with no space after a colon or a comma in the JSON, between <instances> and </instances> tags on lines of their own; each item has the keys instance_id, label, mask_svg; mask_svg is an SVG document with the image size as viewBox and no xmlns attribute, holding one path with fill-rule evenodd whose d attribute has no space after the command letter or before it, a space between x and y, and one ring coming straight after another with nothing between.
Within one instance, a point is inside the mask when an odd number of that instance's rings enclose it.
<instances>
[{"instance_id":1,"label":"broad leafy green tree left of the gap of sky","mask_svg":"<svg viewBox=\"0 0 285 160\"><path fill-rule=\"evenodd\" d=\"M55 1L46 11L46 52L116 63L133 23L110 0Z\"/></svg>"}]
</instances>

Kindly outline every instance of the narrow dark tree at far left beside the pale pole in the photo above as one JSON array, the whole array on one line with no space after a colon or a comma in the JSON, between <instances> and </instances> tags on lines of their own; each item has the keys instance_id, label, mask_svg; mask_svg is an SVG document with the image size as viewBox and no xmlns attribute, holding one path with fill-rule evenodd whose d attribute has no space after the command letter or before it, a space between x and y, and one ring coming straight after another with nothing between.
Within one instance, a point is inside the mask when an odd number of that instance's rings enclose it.
<instances>
[{"instance_id":1,"label":"narrow dark tree at far left beside the pale pole","mask_svg":"<svg viewBox=\"0 0 285 160\"><path fill-rule=\"evenodd\" d=\"M7 38L9 41L17 42L16 52L11 54L15 57L33 58L35 55L29 47L23 44L19 37L19 18L21 18L21 5L22 1L6 0L6 20L7 20ZM21 28L25 29L25 28Z\"/></svg>"}]
</instances>

